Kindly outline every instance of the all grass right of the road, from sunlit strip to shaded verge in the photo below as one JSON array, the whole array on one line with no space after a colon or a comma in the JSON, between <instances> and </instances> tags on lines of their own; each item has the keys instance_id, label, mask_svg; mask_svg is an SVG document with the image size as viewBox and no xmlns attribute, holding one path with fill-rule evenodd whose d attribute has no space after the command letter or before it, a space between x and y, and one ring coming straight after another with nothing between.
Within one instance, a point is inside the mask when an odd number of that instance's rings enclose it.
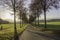
<instances>
[{"instance_id":1,"label":"all grass right of the road, from sunlit strip to shaded verge","mask_svg":"<svg viewBox=\"0 0 60 40\"><path fill-rule=\"evenodd\" d=\"M47 22L47 28L44 28L44 22L36 23L34 30L43 31L50 34L56 34L60 37L60 22Z\"/></svg>"}]
</instances>

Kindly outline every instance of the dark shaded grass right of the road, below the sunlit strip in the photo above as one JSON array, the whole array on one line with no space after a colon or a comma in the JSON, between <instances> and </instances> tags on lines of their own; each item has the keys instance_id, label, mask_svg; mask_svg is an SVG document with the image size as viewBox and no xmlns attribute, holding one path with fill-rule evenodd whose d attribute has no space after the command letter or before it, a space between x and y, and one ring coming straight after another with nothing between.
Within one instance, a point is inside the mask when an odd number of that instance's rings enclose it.
<instances>
[{"instance_id":1,"label":"dark shaded grass right of the road, below the sunlit strip","mask_svg":"<svg viewBox=\"0 0 60 40\"><path fill-rule=\"evenodd\" d=\"M34 27L38 28L44 28L44 24L33 24ZM56 34L57 36L60 37L60 25L52 25L52 24L47 24L47 28L46 29L42 29L44 31L51 31L52 34ZM41 30L40 30L41 31Z\"/></svg>"}]
</instances>

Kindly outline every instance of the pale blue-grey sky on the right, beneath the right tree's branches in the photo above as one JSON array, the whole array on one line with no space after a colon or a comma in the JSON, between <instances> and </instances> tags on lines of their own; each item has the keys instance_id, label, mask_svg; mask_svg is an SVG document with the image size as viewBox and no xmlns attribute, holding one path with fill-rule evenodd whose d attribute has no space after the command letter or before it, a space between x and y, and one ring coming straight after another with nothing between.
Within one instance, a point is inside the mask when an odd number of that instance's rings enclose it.
<instances>
[{"instance_id":1,"label":"pale blue-grey sky on the right, beneath the right tree's branches","mask_svg":"<svg viewBox=\"0 0 60 40\"><path fill-rule=\"evenodd\" d=\"M51 9L46 13L47 20L50 19L60 19L60 8L59 9ZM44 15L41 14L41 20L44 19Z\"/></svg>"}]
</instances>

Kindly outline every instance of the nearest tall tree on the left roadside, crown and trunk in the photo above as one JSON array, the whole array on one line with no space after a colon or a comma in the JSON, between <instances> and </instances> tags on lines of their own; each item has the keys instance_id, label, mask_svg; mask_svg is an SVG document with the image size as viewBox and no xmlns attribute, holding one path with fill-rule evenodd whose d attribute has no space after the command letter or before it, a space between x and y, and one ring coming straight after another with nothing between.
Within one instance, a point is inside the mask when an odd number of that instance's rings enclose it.
<instances>
[{"instance_id":1,"label":"nearest tall tree on the left roadside, crown and trunk","mask_svg":"<svg viewBox=\"0 0 60 40\"><path fill-rule=\"evenodd\" d=\"M20 0L1 0L4 5L9 8L10 11L14 13L14 40L18 40L17 28L16 28L16 13L18 12L18 6Z\"/></svg>"}]
</instances>

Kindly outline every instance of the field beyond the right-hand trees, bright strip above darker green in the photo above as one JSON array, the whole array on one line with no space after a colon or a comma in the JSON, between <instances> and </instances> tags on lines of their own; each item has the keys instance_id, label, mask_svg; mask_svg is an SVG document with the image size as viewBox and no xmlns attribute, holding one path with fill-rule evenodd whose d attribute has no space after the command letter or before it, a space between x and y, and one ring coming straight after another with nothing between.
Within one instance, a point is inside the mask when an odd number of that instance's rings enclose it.
<instances>
[{"instance_id":1,"label":"field beyond the right-hand trees, bright strip above darker green","mask_svg":"<svg viewBox=\"0 0 60 40\"><path fill-rule=\"evenodd\" d=\"M47 29L60 30L60 22L47 22ZM36 23L37 27L44 28L44 22L40 22L39 25Z\"/></svg>"}]
</instances>

